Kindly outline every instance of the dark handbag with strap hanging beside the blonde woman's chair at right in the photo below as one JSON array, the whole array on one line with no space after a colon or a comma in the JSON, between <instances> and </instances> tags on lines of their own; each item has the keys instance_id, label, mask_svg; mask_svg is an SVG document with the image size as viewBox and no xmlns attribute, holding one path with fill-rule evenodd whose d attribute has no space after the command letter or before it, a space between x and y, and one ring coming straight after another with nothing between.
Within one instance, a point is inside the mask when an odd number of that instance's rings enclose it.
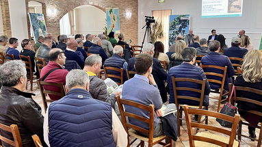
<instances>
[{"instance_id":1,"label":"dark handbag with strap hanging beside the blonde woman's chair at right","mask_svg":"<svg viewBox=\"0 0 262 147\"><path fill-rule=\"evenodd\" d=\"M232 92L231 92L231 96L229 97L229 101L231 101L232 95L234 93L234 97L236 97L235 94L235 85L233 85L232 88ZM226 102L224 104L224 106L222 107L220 113L226 114L228 116L235 116L235 113L237 113L237 107L235 107L234 105L231 105L230 103ZM215 119L218 123L220 123L221 126L227 127L227 128L231 128L232 127L232 123L228 122L226 120L221 120L219 118Z\"/></svg>"}]
</instances>

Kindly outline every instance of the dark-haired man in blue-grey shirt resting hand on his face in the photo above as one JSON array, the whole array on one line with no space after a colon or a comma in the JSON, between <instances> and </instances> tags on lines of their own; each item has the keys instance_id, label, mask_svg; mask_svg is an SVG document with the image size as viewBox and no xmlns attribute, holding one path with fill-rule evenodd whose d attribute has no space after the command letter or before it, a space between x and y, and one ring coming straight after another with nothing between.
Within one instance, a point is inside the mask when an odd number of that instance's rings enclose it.
<instances>
[{"instance_id":1,"label":"dark-haired man in blue-grey shirt resting hand on his face","mask_svg":"<svg viewBox=\"0 0 262 147\"><path fill-rule=\"evenodd\" d=\"M144 44L145 47L146 44ZM153 44L152 44L153 46ZM163 135L163 124L161 123L159 110L163 103L159 90L157 89L157 83L155 83L154 77L151 74L153 70L153 57L146 53L137 55L135 57L135 77L126 81L122 88L122 98L130 101L135 101L144 105L155 106L155 118L154 118L154 137ZM125 105L127 112L135 113L136 115L149 118L148 112L142 109ZM148 124L129 118L131 124L135 124L144 129L148 129Z\"/></svg>"}]
</instances>

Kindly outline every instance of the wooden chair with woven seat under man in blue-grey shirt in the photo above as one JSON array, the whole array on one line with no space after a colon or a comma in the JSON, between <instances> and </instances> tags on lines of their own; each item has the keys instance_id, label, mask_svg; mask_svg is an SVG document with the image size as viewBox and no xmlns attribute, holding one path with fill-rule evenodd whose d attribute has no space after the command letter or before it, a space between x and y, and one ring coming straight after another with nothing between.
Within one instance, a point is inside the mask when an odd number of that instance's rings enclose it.
<instances>
[{"instance_id":1,"label":"wooden chair with woven seat under man in blue-grey shirt","mask_svg":"<svg viewBox=\"0 0 262 147\"><path fill-rule=\"evenodd\" d=\"M120 110L120 115L122 118L122 124L125 128L125 131L127 131L127 135L128 135L128 142L130 142L130 137L135 137L137 139L140 139L140 145L144 147L144 142L148 142L148 147L152 147L155 144L161 144L163 146L173 146L173 142L172 139L166 135L161 135L159 137L153 137L153 131L154 131L154 116L155 116L155 109L154 109L154 105L142 105L140 103L136 103L133 101L128 101L128 100L124 100L121 99L119 96L116 97L116 101L118 103L118 107ZM124 105L130 105L133 107L137 107L140 108L142 110L148 111L148 115L149 118L144 118L142 116L137 116L135 113L131 113L131 112L127 112L124 109ZM143 129L140 126L136 126L135 124L130 124L127 121L127 118L133 118L135 120L140 120L146 124L148 124L149 129ZM148 134L148 137L144 137L142 135L138 135L136 131L140 131L142 133ZM168 144L161 142L163 139L169 139ZM132 144L133 142L131 142ZM129 147L131 144L127 144L127 146Z\"/></svg>"}]
</instances>

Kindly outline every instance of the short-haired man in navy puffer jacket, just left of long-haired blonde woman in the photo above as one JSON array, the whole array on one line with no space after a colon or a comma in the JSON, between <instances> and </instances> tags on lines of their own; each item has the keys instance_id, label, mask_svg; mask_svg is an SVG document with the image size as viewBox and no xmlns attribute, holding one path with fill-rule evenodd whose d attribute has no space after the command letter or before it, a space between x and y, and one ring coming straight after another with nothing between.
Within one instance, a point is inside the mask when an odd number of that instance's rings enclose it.
<instances>
[{"instance_id":1,"label":"short-haired man in navy puffer jacket, just left of long-haired blonde woman","mask_svg":"<svg viewBox=\"0 0 262 147\"><path fill-rule=\"evenodd\" d=\"M218 40L212 40L209 42L209 50L211 53L205 55L201 59L201 64L203 65L213 65L213 66L227 66L226 79L224 81L224 90L228 91L228 82L231 82L231 77L235 74L235 70L231 64L231 61L225 55L220 55L220 42ZM217 72L223 74L222 70L214 68L205 68L205 72ZM214 77L207 75L207 79L216 79L222 81L221 77ZM212 90L218 90L221 85L218 83L209 83Z\"/></svg>"}]
</instances>

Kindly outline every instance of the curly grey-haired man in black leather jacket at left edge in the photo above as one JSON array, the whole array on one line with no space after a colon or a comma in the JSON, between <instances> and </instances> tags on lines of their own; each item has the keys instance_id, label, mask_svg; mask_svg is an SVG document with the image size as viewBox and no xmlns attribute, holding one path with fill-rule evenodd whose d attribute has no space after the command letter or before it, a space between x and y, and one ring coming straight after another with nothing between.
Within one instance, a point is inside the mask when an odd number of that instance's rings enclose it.
<instances>
[{"instance_id":1,"label":"curly grey-haired man in black leather jacket at left edge","mask_svg":"<svg viewBox=\"0 0 262 147\"><path fill-rule=\"evenodd\" d=\"M0 66L0 123L10 126L17 124L22 145L35 146L31 135L37 134L44 146L43 122L41 107L32 96L23 92L27 85L27 71L21 60L5 62ZM1 132L3 137L12 139L12 134ZM8 146L3 142L3 146Z\"/></svg>"}]
</instances>

